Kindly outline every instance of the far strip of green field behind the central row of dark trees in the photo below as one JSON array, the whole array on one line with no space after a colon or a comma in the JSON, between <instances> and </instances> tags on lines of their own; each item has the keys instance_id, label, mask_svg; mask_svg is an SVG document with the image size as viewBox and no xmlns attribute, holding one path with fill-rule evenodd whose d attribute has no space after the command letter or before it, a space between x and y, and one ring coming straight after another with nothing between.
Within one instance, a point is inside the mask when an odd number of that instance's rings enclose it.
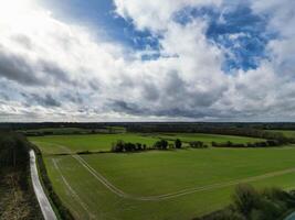
<instances>
[{"instance_id":1,"label":"far strip of green field behind the central row of dark trees","mask_svg":"<svg viewBox=\"0 0 295 220\"><path fill-rule=\"evenodd\" d=\"M48 143L61 144L71 147L73 152L81 151L109 151L112 143L117 140L125 142L141 143L151 146L159 139L180 139L183 142L202 141L208 145L211 142L224 143L231 141L233 143L249 143L262 141L261 139L252 139L244 136L230 136L218 134L137 134L137 133L122 133L122 134L82 134L82 135L48 135L48 136L31 136L30 141L38 144L44 154L65 153L59 147L52 147Z\"/></svg>"}]
</instances>

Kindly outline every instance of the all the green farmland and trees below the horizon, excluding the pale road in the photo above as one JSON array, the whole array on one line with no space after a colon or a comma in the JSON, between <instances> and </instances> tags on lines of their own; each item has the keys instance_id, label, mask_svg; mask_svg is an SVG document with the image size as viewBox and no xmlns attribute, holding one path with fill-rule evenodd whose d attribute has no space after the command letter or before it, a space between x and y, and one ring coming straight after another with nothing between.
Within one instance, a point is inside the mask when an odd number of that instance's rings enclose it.
<instances>
[{"instance_id":1,"label":"all the green farmland and trees below the horizon, excluding the pale road","mask_svg":"<svg viewBox=\"0 0 295 220\"><path fill-rule=\"evenodd\" d=\"M56 219L284 220L295 209L295 124L1 128L1 219L44 218L29 151Z\"/></svg>"}]
</instances>

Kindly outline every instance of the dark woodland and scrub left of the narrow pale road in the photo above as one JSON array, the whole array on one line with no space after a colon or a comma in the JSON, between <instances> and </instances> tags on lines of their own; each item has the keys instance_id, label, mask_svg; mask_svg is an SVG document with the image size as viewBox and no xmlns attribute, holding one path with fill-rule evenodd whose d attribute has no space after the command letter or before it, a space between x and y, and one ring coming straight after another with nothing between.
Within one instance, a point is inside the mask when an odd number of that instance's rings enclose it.
<instances>
[{"instance_id":1,"label":"dark woodland and scrub left of the narrow pale road","mask_svg":"<svg viewBox=\"0 0 295 220\"><path fill-rule=\"evenodd\" d=\"M0 132L0 219L43 219L30 178L30 144Z\"/></svg>"}]
</instances>

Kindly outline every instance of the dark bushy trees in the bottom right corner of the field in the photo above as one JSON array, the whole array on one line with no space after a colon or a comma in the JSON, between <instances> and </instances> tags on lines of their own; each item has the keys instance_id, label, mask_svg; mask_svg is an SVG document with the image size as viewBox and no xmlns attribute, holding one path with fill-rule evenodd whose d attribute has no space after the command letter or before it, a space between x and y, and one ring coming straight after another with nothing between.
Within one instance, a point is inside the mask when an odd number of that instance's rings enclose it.
<instances>
[{"instance_id":1,"label":"dark bushy trees in the bottom right corner of the field","mask_svg":"<svg viewBox=\"0 0 295 220\"><path fill-rule=\"evenodd\" d=\"M295 191L256 190L251 185L239 185L228 208L194 220L278 220L294 208Z\"/></svg>"}]
</instances>

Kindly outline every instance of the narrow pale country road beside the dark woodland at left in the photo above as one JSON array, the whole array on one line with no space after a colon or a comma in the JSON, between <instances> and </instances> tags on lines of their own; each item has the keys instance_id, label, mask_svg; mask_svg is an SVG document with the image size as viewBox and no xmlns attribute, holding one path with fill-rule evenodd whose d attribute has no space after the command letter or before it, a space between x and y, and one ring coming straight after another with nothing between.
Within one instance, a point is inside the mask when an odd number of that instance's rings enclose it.
<instances>
[{"instance_id":1,"label":"narrow pale country road beside the dark woodland at left","mask_svg":"<svg viewBox=\"0 0 295 220\"><path fill-rule=\"evenodd\" d=\"M35 164L35 153L34 151L30 151L30 168L31 168L31 178L33 183L34 193L39 205L41 207L41 211L45 220L57 220L55 212L53 211L51 204L42 188L42 185L39 179L36 164Z\"/></svg>"}]
</instances>

